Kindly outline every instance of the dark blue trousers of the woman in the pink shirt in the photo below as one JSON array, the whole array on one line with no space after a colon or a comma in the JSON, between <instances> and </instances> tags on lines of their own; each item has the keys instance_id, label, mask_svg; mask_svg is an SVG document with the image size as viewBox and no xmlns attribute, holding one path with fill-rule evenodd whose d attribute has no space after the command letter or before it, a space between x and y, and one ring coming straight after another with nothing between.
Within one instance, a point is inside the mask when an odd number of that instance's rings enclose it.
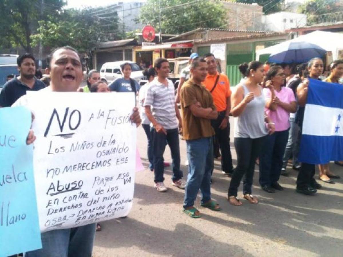
<instances>
[{"instance_id":1,"label":"dark blue trousers of the woman in the pink shirt","mask_svg":"<svg viewBox=\"0 0 343 257\"><path fill-rule=\"evenodd\" d=\"M260 155L259 183L263 187L270 186L279 180L282 168L282 158L288 140L288 131L276 131L267 135Z\"/></svg>"}]
</instances>

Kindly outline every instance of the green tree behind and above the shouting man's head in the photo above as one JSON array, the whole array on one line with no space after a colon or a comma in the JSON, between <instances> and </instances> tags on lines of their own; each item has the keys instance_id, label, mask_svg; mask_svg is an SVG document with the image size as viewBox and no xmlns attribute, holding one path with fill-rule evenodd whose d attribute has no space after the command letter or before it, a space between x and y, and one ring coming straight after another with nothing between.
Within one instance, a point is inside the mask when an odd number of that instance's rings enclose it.
<instances>
[{"instance_id":1,"label":"green tree behind and above the shouting man's head","mask_svg":"<svg viewBox=\"0 0 343 257\"><path fill-rule=\"evenodd\" d=\"M47 21L39 21L37 33L31 36L32 46L39 42L49 48L68 45L92 59L99 42L123 38L118 16L104 20L92 13L94 9L66 9L56 17L49 16Z\"/></svg>"}]
</instances>

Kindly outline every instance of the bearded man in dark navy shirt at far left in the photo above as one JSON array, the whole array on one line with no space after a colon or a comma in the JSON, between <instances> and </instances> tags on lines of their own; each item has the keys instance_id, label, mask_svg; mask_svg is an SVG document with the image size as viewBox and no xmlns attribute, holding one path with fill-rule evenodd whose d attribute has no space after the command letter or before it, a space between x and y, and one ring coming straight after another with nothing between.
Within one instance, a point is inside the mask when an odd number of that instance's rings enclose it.
<instances>
[{"instance_id":1,"label":"bearded man in dark navy shirt at far left","mask_svg":"<svg viewBox=\"0 0 343 257\"><path fill-rule=\"evenodd\" d=\"M22 54L17 58L19 77L7 81L0 93L0 107L10 107L27 90L38 91L45 88L45 84L35 78L35 57L32 54Z\"/></svg>"}]
</instances>

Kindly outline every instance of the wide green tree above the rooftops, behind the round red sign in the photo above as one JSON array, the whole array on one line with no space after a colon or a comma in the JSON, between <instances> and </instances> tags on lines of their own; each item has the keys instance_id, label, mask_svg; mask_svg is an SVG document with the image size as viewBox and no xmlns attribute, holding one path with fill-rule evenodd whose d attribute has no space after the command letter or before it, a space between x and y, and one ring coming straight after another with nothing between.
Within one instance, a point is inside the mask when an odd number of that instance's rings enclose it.
<instances>
[{"instance_id":1,"label":"wide green tree above the rooftops, behind the round red sign","mask_svg":"<svg viewBox=\"0 0 343 257\"><path fill-rule=\"evenodd\" d=\"M208 0L148 0L141 9L139 21L159 28L161 2L161 30L163 34L181 34L199 27L226 26L226 10L219 2Z\"/></svg>"}]
</instances>

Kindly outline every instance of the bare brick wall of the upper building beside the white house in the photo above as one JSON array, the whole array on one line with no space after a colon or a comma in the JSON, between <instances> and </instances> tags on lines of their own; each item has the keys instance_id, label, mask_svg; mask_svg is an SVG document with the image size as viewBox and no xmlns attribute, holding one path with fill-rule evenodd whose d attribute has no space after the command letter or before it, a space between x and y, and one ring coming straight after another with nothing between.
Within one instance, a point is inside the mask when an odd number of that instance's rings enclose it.
<instances>
[{"instance_id":1,"label":"bare brick wall of the upper building beside the white house","mask_svg":"<svg viewBox=\"0 0 343 257\"><path fill-rule=\"evenodd\" d=\"M221 1L227 9L228 29L263 30L262 6Z\"/></svg>"}]
</instances>

